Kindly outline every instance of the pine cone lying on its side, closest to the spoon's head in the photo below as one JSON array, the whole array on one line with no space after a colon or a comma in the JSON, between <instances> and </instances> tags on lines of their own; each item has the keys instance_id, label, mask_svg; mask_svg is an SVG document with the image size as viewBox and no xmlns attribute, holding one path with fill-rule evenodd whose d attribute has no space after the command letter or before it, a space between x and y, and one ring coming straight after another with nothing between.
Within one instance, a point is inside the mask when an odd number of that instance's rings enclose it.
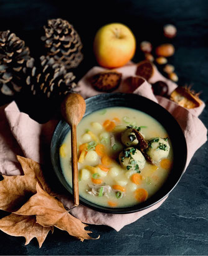
<instances>
[{"instance_id":1,"label":"pine cone lying on its side, closest to the spoon's head","mask_svg":"<svg viewBox=\"0 0 208 256\"><path fill-rule=\"evenodd\" d=\"M32 94L45 95L49 97L63 96L73 91L77 86L73 80L72 72L67 72L65 67L49 56L40 57L40 66L34 66L34 59L27 61L24 68L26 84L30 87Z\"/></svg>"}]
</instances>

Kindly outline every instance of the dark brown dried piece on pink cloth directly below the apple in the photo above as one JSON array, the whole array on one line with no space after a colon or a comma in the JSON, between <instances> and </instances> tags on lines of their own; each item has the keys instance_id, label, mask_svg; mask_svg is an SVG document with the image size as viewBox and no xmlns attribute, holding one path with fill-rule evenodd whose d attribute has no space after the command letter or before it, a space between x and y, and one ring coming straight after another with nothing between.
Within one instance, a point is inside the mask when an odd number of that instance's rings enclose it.
<instances>
[{"instance_id":1,"label":"dark brown dried piece on pink cloth directly below the apple","mask_svg":"<svg viewBox=\"0 0 208 256\"><path fill-rule=\"evenodd\" d=\"M122 74L116 71L100 72L92 77L92 86L100 92L114 91L121 82Z\"/></svg>"}]
</instances>

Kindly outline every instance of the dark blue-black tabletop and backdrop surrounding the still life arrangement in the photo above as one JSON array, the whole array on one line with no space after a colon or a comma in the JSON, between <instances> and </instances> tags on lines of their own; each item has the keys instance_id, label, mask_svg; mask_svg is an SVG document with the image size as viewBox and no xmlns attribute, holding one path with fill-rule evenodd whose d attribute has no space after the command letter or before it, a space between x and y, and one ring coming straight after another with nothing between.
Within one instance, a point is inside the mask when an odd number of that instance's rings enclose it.
<instances>
[{"instance_id":1,"label":"dark blue-black tabletop and backdrop surrounding the still life arrangement","mask_svg":"<svg viewBox=\"0 0 208 256\"><path fill-rule=\"evenodd\" d=\"M97 29L109 22L129 26L139 42L164 41L161 29L171 23L177 27L173 40L176 54L170 62L176 67L179 85L193 84L208 100L208 1L207 0L0 0L0 31L10 29L26 41L33 57L42 54L42 26L47 19L67 19L82 39L85 59L77 69L77 79L96 64L92 52ZM134 61L139 61L137 53ZM38 111L38 102L24 96L0 96L1 105L17 101L22 111L37 121L49 119L49 109ZM34 109L35 104L35 109ZM44 106L42 103L41 107ZM208 124L207 105L199 117ZM24 245L23 237L0 232L1 255L207 255L208 254L208 168L207 144L197 150L179 184L159 209L145 215L120 232L110 227L90 225L99 240L80 242L67 232L56 229L42 248L35 239ZM0 212L1 216L4 213Z\"/></svg>"}]
</instances>

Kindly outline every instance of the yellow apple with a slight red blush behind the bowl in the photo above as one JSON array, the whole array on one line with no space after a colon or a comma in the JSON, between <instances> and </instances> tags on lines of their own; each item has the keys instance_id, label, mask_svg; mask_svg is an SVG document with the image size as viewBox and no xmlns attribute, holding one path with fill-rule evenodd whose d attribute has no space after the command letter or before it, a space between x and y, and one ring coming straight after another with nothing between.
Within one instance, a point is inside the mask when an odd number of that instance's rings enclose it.
<instances>
[{"instance_id":1,"label":"yellow apple with a slight red blush behind the bowl","mask_svg":"<svg viewBox=\"0 0 208 256\"><path fill-rule=\"evenodd\" d=\"M107 24L95 35L93 50L100 66L121 67L135 55L136 39L129 27L120 23Z\"/></svg>"}]
</instances>

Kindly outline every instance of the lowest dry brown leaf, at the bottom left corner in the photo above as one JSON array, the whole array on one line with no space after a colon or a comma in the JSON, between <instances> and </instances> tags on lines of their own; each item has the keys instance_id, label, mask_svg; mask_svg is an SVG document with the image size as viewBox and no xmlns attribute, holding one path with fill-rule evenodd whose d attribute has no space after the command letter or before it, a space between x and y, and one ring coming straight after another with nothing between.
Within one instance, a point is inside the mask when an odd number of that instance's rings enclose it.
<instances>
[{"instance_id":1,"label":"lowest dry brown leaf, at the bottom left corner","mask_svg":"<svg viewBox=\"0 0 208 256\"><path fill-rule=\"evenodd\" d=\"M0 220L0 230L15 237L25 237L26 245L36 237L41 247L49 231L54 232L54 227L43 227L36 223L35 216L10 214Z\"/></svg>"}]
</instances>

